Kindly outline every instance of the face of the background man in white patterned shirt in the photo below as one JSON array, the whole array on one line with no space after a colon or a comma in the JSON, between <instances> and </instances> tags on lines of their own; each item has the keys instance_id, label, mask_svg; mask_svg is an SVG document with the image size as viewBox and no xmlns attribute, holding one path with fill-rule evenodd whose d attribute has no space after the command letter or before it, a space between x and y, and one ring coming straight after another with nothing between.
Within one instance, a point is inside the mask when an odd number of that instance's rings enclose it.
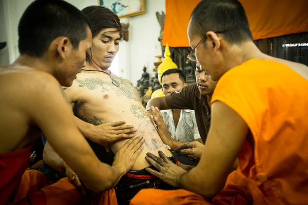
<instances>
[{"instance_id":1,"label":"face of the background man in white patterned shirt","mask_svg":"<svg viewBox=\"0 0 308 205\"><path fill-rule=\"evenodd\" d=\"M172 92L181 90L185 85L180 79L179 73L172 73L169 75L164 75L162 79L163 93L164 95L169 95Z\"/></svg>"}]
</instances>

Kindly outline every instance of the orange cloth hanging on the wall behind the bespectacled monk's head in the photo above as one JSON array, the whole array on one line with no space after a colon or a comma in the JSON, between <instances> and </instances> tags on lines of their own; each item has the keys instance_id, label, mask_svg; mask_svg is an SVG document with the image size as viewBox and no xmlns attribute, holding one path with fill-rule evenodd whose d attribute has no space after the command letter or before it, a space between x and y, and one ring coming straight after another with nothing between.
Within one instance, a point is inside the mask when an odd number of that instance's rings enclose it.
<instances>
[{"instance_id":1,"label":"orange cloth hanging on the wall behind the bespectacled monk's head","mask_svg":"<svg viewBox=\"0 0 308 205\"><path fill-rule=\"evenodd\" d=\"M192 10L201 0L166 0L163 45L189 47L187 26ZM263 39L308 32L306 0L240 0L253 38Z\"/></svg>"}]
</instances>

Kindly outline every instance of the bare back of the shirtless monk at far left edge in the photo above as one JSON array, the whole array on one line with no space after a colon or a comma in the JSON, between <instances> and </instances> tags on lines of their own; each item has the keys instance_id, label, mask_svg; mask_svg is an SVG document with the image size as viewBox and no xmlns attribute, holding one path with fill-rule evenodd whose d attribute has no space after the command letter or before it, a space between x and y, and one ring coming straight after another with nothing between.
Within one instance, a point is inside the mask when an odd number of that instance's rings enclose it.
<instances>
[{"instance_id":1,"label":"bare back of the shirtless monk at far left edge","mask_svg":"<svg viewBox=\"0 0 308 205\"><path fill-rule=\"evenodd\" d=\"M25 66L0 67L0 153L22 150L40 136L26 111L27 86L41 72Z\"/></svg>"}]
</instances>

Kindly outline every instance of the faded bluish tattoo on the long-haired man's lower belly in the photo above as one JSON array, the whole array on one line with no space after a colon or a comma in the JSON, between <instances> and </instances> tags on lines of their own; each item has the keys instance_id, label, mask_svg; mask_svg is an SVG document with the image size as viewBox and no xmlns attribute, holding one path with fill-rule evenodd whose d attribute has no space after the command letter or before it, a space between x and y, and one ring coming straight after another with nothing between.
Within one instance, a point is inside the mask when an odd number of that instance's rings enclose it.
<instances>
[{"instance_id":1,"label":"faded bluish tattoo on the long-haired man's lower belly","mask_svg":"<svg viewBox=\"0 0 308 205\"><path fill-rule=\"evenodd\" d=\"M144 144L149 150L158 150L163 147L161 140L158 137L152 137L156 130L150 120L145 120L139 125L138 131L142 133L145 141Z\"/></svg>"}]
</instances>

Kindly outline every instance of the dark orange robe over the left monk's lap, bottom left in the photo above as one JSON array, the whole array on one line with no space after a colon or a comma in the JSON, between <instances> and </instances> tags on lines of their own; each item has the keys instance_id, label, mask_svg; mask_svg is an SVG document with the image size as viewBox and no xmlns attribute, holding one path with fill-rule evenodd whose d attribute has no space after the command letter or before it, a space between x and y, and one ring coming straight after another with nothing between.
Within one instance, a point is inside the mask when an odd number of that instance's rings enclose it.
<instances>
[{"instance_id":1,"label":"dark orange robe over the left monk's lap, bottom left","mask_svg":"<svg viewBox=\"0 0 308 205\"><path fill-rule=\"evenodd\" d=\"M36 170L24 173L13 204L30 204L28 200L40 205L73 205L80 204L81 201L93 205L118 204L114 189L85 199L67 177L52 184L44 174Z\"/></svg>"}]
</instances>

